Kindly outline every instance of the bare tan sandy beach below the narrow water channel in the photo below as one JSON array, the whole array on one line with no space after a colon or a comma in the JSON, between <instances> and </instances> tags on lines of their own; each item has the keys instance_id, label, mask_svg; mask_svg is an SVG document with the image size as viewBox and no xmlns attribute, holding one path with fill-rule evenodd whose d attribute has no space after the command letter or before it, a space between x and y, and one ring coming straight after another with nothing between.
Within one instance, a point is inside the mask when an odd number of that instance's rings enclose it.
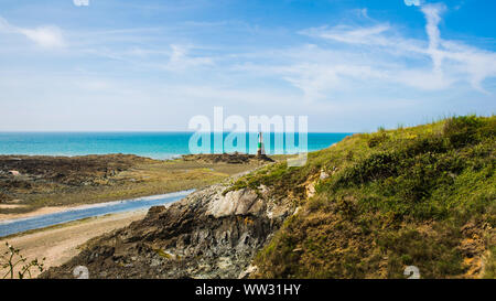
<instances>
[{"instance_id":1,"label":"bare tan sandy beach below the narrow water channel","mask_svg":"<svg viewBox=\"0 0 496 301\"><path fill-rule=\"evenodd\" d=\"M28 234L0 238L0 246L3 250L4 244L8 241L21 249L21 254L29 260L45 257L45 268L50 268L62 265L77 255L78 246L88 239L125 227L143 218L145 214L147 211L141 209L71 222ZM7 272L0 271L1 277ZM33 269L32 272L33 277L39 275L37 270Z\"/></svg>"}]
</instances>

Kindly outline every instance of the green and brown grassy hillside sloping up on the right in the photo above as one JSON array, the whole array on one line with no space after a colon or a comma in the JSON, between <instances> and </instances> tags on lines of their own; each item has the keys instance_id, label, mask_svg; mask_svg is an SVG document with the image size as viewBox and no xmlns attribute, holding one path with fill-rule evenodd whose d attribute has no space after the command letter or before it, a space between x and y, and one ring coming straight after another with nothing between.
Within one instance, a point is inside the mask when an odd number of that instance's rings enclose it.
<instances>
[{"instance_id":1,"label":"green and brown grassy hillside sloping up on the right","mask_svg":"<svg viewBox=\"0 0 496 301\"><path fill-rule=\"evenodd\" d=\"M234 187L290 197L287 219L255 264L257 277L496 277L496 117L354 135L272 164Z\"/></svg>"}]
</instances>

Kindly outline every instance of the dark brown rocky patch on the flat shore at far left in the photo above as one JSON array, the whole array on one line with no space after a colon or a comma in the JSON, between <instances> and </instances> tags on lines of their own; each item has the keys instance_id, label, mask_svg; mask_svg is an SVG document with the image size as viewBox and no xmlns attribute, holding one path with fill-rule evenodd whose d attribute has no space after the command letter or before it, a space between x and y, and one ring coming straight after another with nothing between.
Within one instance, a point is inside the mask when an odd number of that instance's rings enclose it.
<instances>
[{"instance_id":1,"label":"dark brown rocky patch on the flat shore at far left","mask_svg":"<svg viewBox=\"0 0 496 301\"><path fill-rule=\"evenodd\" d=\"M121 171L159 162L133 154L0 155L0 203L30 200L36 194L50 198L50 192L111 185L118 182L115 175Z\"/></svg>"}]
</instances>

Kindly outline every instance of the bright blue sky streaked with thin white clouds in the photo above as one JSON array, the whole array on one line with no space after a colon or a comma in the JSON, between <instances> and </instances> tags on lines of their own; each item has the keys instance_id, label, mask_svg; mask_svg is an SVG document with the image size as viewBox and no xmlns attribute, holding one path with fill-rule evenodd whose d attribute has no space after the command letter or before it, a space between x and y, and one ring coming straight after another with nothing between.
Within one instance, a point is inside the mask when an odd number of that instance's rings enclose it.
<instances>
[{"instance_id":1,"label":"bright blue sky streaked with thin white clouds","mask_svg":"<svg viewBox=\"0 0 496 301\"><path fill-rule=\"evenodd\" d=\"M0 0L0 131L308 116L358 132L496 111L493 0Z\"/></svg>"}]
</instances>

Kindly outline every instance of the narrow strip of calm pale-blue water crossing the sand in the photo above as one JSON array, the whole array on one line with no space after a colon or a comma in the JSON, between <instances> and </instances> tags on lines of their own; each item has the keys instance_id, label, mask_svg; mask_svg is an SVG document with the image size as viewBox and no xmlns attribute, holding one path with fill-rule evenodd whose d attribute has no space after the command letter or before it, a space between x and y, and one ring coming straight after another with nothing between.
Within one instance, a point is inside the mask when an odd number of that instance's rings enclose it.
<instances>
[{"instance_id":1,"label":"narrow strip of calm pale-blue water crossing the sand","mask_svg":"<svg viewBox=\"0 0 496 301\"><path fill-rule=\"evenodd\" d=\"M134 200L108 202L103 204L82 206L79 208L74 208L66 212L45 214L28 218L19 218L10 222L0 222L0 237L25 230L44 228L86 217L136 209L148 209L151 206L158 206L179 201L192 192L193 191L182 191Z\"/></svg>"}]
</instances>

